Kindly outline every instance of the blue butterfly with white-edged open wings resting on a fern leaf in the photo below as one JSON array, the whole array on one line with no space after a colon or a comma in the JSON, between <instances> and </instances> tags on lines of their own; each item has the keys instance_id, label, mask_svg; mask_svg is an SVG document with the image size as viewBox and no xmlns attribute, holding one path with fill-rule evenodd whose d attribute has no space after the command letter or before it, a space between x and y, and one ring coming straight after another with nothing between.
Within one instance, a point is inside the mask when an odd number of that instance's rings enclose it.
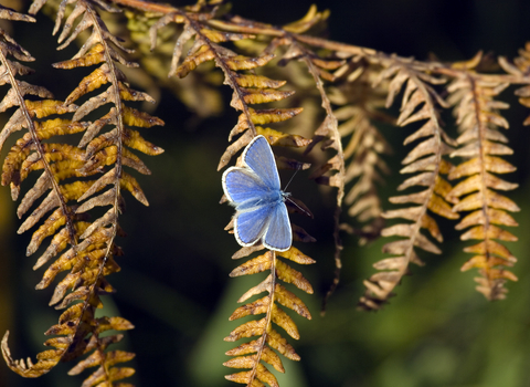
<instances>
[{"instance_id":1,"label":"blue butterfly with white-edged open wings resting on a fern leaf","mask_svg":"<svg viewBox=\"0 0 530 387\"><path fill-rule=\"evenodd\" d=\"M269 250L287 251L293 243L289 216L271 145L255 137L243 151L243 168L223 174L223 190L235 207L235 239L244 247L257 241Z\"/></svg>"}]
</instances>

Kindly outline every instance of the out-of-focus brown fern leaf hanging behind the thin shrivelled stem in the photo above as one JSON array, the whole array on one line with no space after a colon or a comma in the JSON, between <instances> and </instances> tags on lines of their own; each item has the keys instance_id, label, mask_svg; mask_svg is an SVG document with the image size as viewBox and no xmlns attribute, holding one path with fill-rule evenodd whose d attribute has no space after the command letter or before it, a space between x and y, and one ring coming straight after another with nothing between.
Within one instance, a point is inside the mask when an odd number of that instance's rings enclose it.
<instances>
[{"instance_id":1,"label":"out-of-focus brown fern leaf hanging behind the thin shrivelled stem","mask_svg":"<svg viewBox=\"0 0 530 387\"><path fill-rule=\"evenodd\" d=\"M330 90L330 100L340 106L335 115L341 122L339 133L344 146L344 185L349 185L344 205L348 215L361 228L341 224L347 232L358 234L363 245L380 237L384 227L378 185L384 180L381 174L390 174L382 155L391 154L391 146L374 125L375 122L395 123L393 117L381 113L388 84L372 87L381 69L367 61L351 61L340 73L339 84Z\"/></svg>"}]
</instances>

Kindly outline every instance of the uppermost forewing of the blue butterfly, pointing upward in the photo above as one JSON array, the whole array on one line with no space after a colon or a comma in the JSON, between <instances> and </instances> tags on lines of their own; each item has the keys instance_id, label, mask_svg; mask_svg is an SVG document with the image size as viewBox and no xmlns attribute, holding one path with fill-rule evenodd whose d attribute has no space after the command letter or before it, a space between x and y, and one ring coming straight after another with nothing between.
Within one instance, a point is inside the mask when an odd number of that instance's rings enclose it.
<instances>
[{"instance_id":1,"label":"uppermost forewing of the blue butterfly, pointing upward","mask_svg":"<svg viewBox=\"0 0 530 387\"><path fill-rule=\"evenodd\" d=\"M247 145L243 154L243 161L263 180L265 186L279 190L276 161L265 137L257 136Z\"/></svg>"}]
</instances>

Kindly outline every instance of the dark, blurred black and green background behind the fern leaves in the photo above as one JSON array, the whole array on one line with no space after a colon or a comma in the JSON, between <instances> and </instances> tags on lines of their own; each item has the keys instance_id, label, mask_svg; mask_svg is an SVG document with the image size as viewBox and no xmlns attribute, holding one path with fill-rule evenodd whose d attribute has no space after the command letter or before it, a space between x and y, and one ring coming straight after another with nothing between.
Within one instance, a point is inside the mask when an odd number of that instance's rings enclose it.
<instances>
[{"instance_id":1,"label":"dark, blurred black and green background behind the fern leaves","mask_svg":"<svg viewBox=\"0 0 530 387\"><path fill-rule=\"evenodd\" d=\"M310 4L298 0L240 0L233 2L233 13L283 24L301 18ZM317 6L331 11L327 38L420 60L435 53L442 61L462 61L478 50L513 57L530 38L529 1L363 0L319 1ZM71 57L75 50L49 50L56 42L51 35L53 22L42 13L36 18L36 25L15 24L14 38L38 57L32 64L38 72L26 81L65 98L75 84L63 79L64 71L49 64ZM280 386L530 386L530 240L526 238L530 231L530 203L526 200L530 185L528 135L521 125L529 112L517 104L512 91L509 88L501 98L512 104L505 114L511 128L505 134L515 156L507 159L519 170L507 179L518 181L520 188L508 197L518 202L521 212L515 216L520 227L511 230L520 241L509 245L519 259L513 269L519 282L507 284L508 299L487 303L474 290L476 273L459 272L470 255L462 251L465 244L453 231L454 224L441 220L444 253L425 255L427 265L412 268L414 275L404 280L396 289L398 296L379 313L357 312L356 304L363 292L362 280L374 271L371 264L383 258L383 241L361 249L354 238L344 237L342 283L326 317L320 317L320 302L333 270L333 194L307 182L307 174L300 172L290 190L311 208L315 219L293 219L319 241L300 247L317 264L296 268L315 287L314 295L300 295L312 321L295 317L301 338L289 338L289 343L303 360L284 360L286 374L278 376ZM121 315L136 325L121 347L137 354L130 363L137 374L126 381L138 386L233 385L224 380L223 375L231 369L222 363L229 358L224 352L240 343L223 342L237 326L227 317L237 307L241 294L259 283L262 276L227 278L240 263L230 259L237 245L223 231L232 209L218 205L222 188L216 165L236 122L227 102L223 115L198 121L171 94L163 93L155 114L166 121L166 126L142 132L166 153L142 157L152 175L138 180L150 207L126 198L128 208L120 224L128 238L118 241L126 255L118 261L123 271L109 278L118 292L104 300L102 312ZM447 132L453 136L456 133L454 128ZM410 150L400 146L409 133L383 128L383 134L398 155L389 160L396 174L399 156ZM3 149L2 157L6 154ZM290 175L284 175L284 180L286 177ZM401 179L389 178L382 195L394 195ZM388 201L384 206L390 208ZM20 223L9 189L3 188L0 326L11 332L9 343L15 358L34 359L43 351L43 332L56 323L60 313L46 306L52 289L33 290L44 269L31 270L35 258L25 257L31 236L15 234ZM73 366L61 364L39 379L25 380L0 364L0 385L80 386L80 376L66 375Z\"/></svg>"}]
</instances>

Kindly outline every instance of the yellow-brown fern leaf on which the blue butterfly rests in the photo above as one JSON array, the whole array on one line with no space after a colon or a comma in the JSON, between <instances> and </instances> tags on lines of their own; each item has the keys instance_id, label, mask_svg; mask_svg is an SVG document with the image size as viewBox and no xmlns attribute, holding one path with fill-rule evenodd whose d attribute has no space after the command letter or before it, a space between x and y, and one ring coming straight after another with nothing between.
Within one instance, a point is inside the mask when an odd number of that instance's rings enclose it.
<instances>
[{"instance_id":1,"label":"yellow-brown fern leaf on which the blue butterfly rests","mask_svg":"<svg viewBox=\"0 0 530 387\"><path fill-rule=\"evenodd\" d=\"M202 23L202 20L206 20L208 23ZM200 64L214 61L215 66L220 67L224 74L224 83L233 90L230 105L236 111L242 112L239 116L237 124L229 135L229 140L232 140L235 136L240 137L227 147L226 151L221 157L218 169L224 168L230 163L232 156L245 147L256 135L265 136L271 145L275 146L301 147L310 143L310 140L307 140L301 136L290 135L265 127L265 125L272 123L293 118L301 112L301 108L258 109L252 106L282 101L294 93L278 90L285 84L284 81L271 80L257 74L257 70L267 65L275 56L273 52L274 49L272 49L275 44L274 41L269 44L268 50L266 49L264 52L259 53L258 56L250 57L241 55L222 46L221 43L255 39L254 34L251 35L237 30L232 32L221 32L216 28L222 28L224 30L227 25L226 22L218 23L218 21L212 21L209 14L202 14L201 18L195 13L190 12L189 9L184 9L162 17L160 21L153 25L151 30L153 31L151 34L151 41L153 43L156 41L156 31L169 22L183 24L183 32L180 34L173 52L170 75L183 77L194 71ZM269 27L265 24L255 25L255 28L264 30L269 29ZM193 40L193 43L181 61L182 49L184 44L191 40ZM287 167L294 169L305 169L308 167L305 164L290 159L279 159L278 166L280 168ZM296 201L296 205L292 205L292 202L288 201L287 207L289 208L289 211L297 211L299 208L305 209L305 206L298 201ZM233 222L227 226L226 230L231 230L232 228ZM312 241L312 238L308 236L304 229L294 224L292 226L292 229L295 241ZM262 245L243 248L234 255L234 258L246 257L261 249L263 249ZM237 320L251 314L265 314L265 317L258 321L250 321L240 325L225 338L225 341L235 342L243 337L258 336L257 339L242 344L226 353L230 356L236 357L226 362L224 364L225 366L232 368L250 368L250 370L226 376L229 380L243 383L247 386L263 386L264 383L269 386L278 386L276 377L262 362L272 365L278 372L284 372L282 360L273 349L276 349L290 359L299 359L295 349L273 328L273 323L275 323L284 328L292 337L299 337L296 324L277 306L277 304L293 308L307 318L310 318L310 314L301 300L280 285L278 280L293 283L308 293L312 293L312 287L309 282L304 279L301 273L279 261L276 254L292 259L298 263L307 264L314 262L310 258L304 255L296 248L292 247L288 251L283 253L268 251L240 265L231 273L231 276L237 276L267 270L271 271L268 278L246 292L240 299L240 302L245 302L253 295L265 291L268 292L268 295L245 304L237 308L230 317L230 320Z\"/></svg>"}]
</instances>

